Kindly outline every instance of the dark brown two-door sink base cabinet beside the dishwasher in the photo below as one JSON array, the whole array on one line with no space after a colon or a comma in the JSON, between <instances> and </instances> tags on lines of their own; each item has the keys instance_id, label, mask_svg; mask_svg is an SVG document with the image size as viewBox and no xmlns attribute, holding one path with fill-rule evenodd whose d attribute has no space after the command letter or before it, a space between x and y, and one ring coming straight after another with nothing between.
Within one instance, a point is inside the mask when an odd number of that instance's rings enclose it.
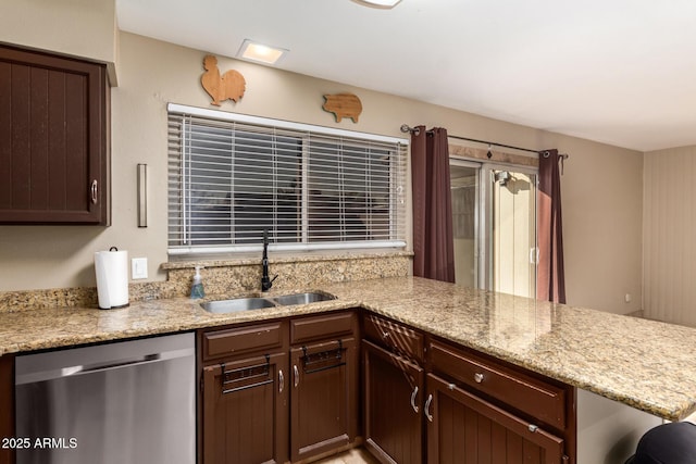
<instances>
[{"instance_id":1,"label":"dark brown two-door sink base cabinet beside the dishwasher","mask_svg":"<svg viewBox=\"0 0 696 464\"><path fill-rule=\"evenodd\" d=\"M358 318L343 311L199 333L199 462L306 462L358 437Z\"/></svg>"}]
</instances>

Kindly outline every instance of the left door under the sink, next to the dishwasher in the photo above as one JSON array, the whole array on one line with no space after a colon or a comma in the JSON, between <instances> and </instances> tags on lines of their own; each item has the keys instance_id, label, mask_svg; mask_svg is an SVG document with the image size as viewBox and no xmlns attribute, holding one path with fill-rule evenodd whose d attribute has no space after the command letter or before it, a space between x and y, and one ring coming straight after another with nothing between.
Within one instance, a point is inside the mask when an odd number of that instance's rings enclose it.
<instances>
[{"instance_id":1,"label":"left door under the sink, next to the dishwasher","mask_svg":"<svg viewBox=\"0 0 696 464\"><path fill-rule=\"evenodd\" d=\"M287 352L203 368L206 464L287 462Z\"/></svg>"}]
</instances>

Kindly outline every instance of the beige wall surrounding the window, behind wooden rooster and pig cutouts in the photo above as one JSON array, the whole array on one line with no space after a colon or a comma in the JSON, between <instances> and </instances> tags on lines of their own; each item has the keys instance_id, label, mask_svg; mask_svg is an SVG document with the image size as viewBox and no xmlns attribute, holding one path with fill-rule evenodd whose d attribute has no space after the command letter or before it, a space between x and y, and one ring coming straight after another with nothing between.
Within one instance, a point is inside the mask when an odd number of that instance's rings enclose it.
<instances>
[{"instance_id":1,"label":"beige wall surrounding the window, behind wooden rooster and pig cutouts","mask_svg":"<svg viewBox=\"0 0 696 464\"><path fill-rule=\"evenodd\" d=\"M113 225L0 226L0 290L94 286L92 254L111 246L147 256L150 280L165 278L158 268L167 260L166 103L210 106L199 84L204 54L120 35L119 87L112 89ZM225 102L224 111L397 137L403 136L402 123L443 126L452 135L570 153L563 177L569 303L621 313L641 309L641 153L223 57L219 66L247 80L244 98ZM323 93L339 91L362 100L359 124L337 124L321 109ZM145 229L136 226L137 163L149 167ZM626 292L633 293L631 304L623 303Z\"/></svg>"}]
</instances>

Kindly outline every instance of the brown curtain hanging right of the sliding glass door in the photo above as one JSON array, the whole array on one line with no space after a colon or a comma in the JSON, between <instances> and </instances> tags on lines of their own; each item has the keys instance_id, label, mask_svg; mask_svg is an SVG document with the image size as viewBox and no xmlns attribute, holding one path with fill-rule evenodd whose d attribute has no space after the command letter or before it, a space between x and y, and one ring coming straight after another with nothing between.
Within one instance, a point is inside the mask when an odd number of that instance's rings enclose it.
<instances>
[{"instance_id":1,"label":"brown curtain hanging right of the sliding glass door","mask_svg":"<svg viewBox=\"0 0 696 464\"><path fill-rule=\"evenodd\" d=\"M539 260L536 298L566 303L560 163L562 163L562 158L559 156L558 150L539 152L537 206Z\"/></svg>"}]
</instances>

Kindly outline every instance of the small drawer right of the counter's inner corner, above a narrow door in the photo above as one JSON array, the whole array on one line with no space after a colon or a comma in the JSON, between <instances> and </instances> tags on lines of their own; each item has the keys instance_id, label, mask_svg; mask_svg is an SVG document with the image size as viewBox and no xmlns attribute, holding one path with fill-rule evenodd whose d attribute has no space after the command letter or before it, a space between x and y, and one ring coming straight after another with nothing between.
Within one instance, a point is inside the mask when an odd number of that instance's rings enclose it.
<instances>
[{"instance_id":1,"label":"small drawer right of the counter's inner corner, above a narrow door","mask_svg":"<svg viewBox=\"0 0 696 464\"><path fill-rule=\"evenodd\" d=\"M402 324L368 314L364 316L364 336L391 351L423 361L423 334Z\"/></svg>"}]
</instances>

